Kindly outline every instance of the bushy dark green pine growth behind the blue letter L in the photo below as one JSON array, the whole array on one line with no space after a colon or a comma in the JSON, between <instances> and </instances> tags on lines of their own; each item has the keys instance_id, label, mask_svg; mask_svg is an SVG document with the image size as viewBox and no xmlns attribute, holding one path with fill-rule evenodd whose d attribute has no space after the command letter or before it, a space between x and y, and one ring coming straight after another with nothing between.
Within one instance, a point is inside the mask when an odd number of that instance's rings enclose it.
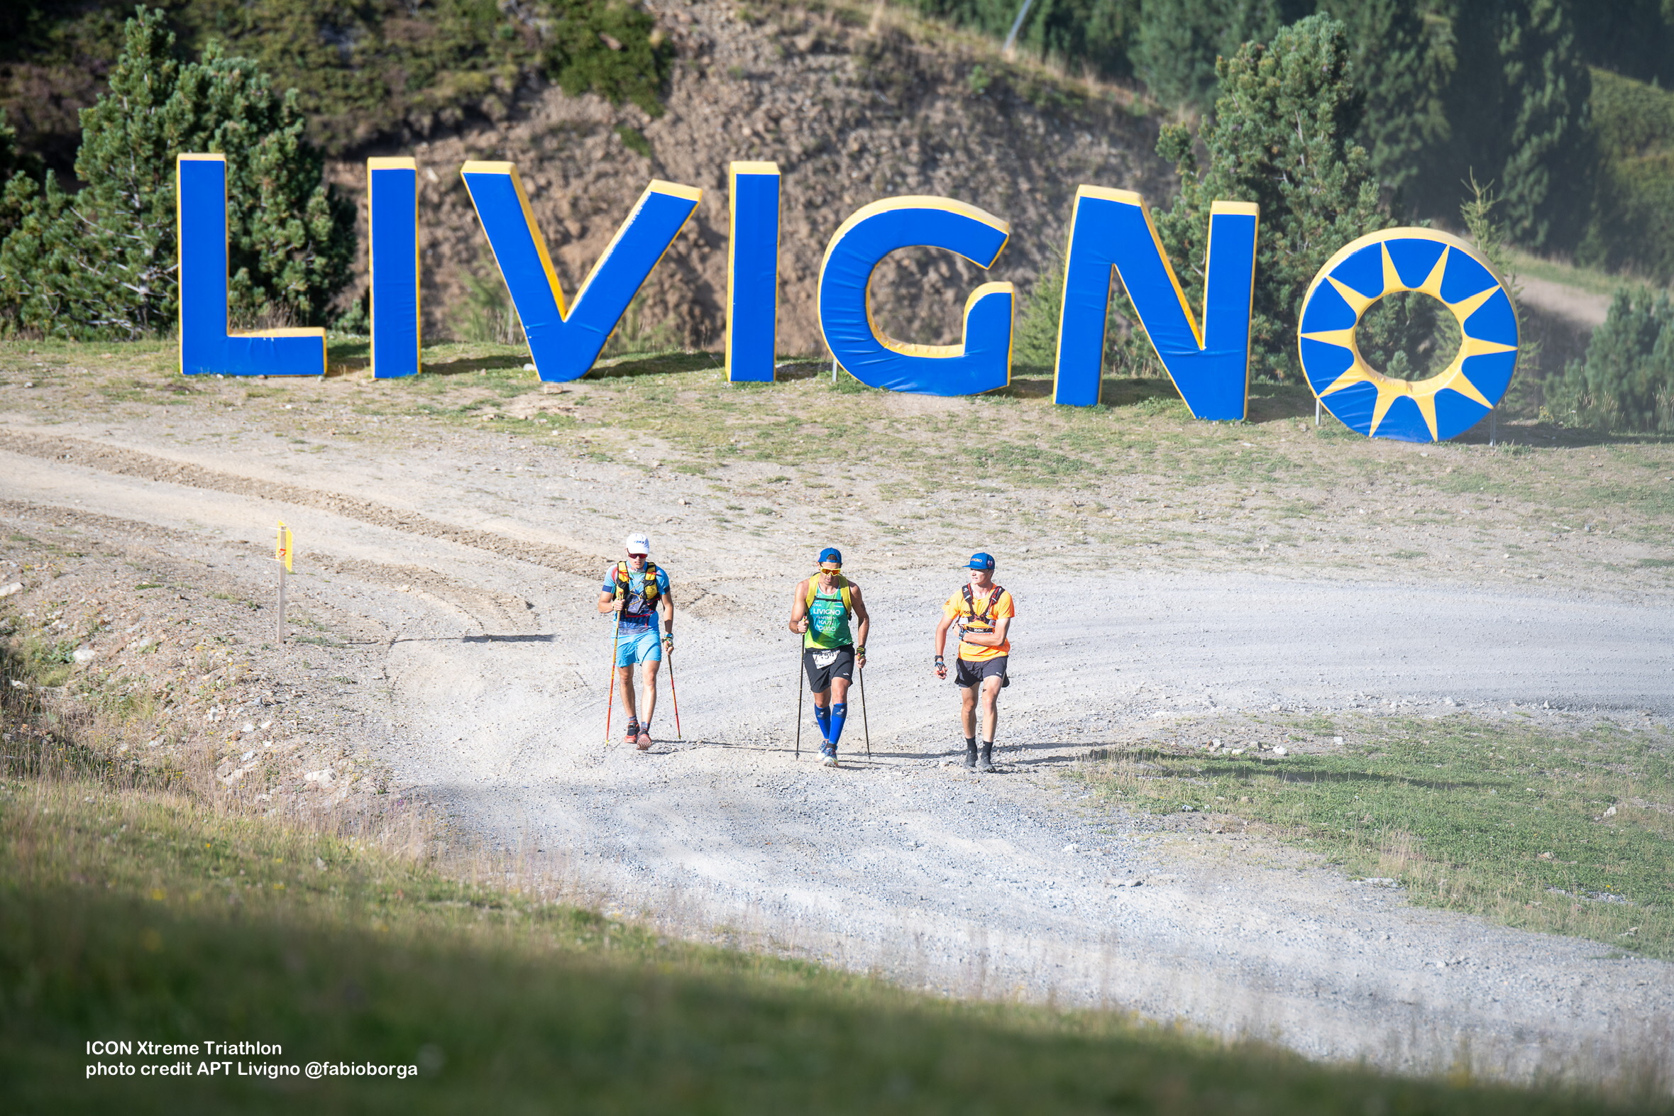
<instances>
[{"instance_id":1,"label":"bushy dark green pine growth behind the blue letter L","mask_svg":"<svg viewBox=\"0 0 1674 1116\"><path fill-rule=\"evenodd\" d=\"M141 336L177 316L174 162L228 157L231 315L249 325L315 325L348 281L353 216L303 141L295 94L280 97L256 65L211 44L174 59L162 12L126 25L110 89L82 110L75 174L64 194L8 187L22 202L0 244L0 306L54 336ZM17 179L13 179L17 184Z\"/></svg>"}]
</instances>

